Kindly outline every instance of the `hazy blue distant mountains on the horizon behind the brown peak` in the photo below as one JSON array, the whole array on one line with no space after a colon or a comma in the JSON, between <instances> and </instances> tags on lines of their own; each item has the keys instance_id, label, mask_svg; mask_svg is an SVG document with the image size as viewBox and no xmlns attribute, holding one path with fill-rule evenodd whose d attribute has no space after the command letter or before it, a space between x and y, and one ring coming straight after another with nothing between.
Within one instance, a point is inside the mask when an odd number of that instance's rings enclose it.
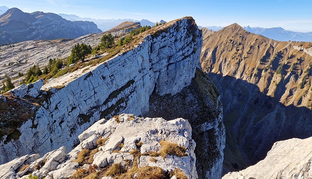
<instances>
[{"instance_id":1,"label":"hazy blue distant mountains on the horizon behind the brown peak","mask_svg":"<svg viewBox=\"0 0 312 179\"><path fill-rule=\"evenodd\" d=\"M223 27L220 26L208 26L206 27L212 31L218 31ZM251 28L249 26L243 27L246 31L262 35L264 37L276 40L276 41L299 41L299 42L312 42L312 32L293 32L285 30L281 27L277 28Z\"/></svg>"}]
</instances>

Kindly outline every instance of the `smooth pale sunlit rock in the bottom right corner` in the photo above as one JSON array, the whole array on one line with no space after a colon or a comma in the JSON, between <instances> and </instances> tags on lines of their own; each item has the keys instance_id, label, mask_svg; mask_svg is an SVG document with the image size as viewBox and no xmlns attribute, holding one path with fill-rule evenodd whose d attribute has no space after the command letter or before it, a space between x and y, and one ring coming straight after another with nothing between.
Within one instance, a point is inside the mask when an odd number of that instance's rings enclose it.
<instances>
[{"instance_id":1,"label":"smooth pale sunlit rock in the bottom right corner","mask_svg":"<svg viewBox=\"0 0 312 179\"><path fill-rule=\"evenodd\" d=\"M274 143L264 160L222 178L311 178L312 137Z\"/></svg>"}]
</instances>

